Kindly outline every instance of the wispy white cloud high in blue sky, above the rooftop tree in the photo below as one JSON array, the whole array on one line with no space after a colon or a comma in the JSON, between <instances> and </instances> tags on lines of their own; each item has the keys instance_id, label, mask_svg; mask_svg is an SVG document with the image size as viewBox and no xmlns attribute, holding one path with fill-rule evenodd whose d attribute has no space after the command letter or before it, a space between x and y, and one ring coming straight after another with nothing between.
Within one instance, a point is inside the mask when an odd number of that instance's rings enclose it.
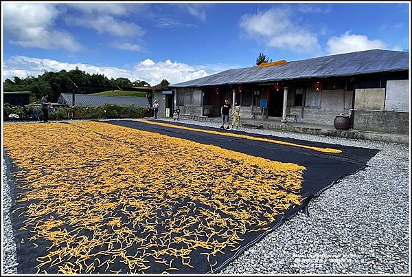
<instances>
[{"instance_id":1,"label":"wispy white cloud high in blue sky, above the rooftop tree","mask_svg":"<svg viewBox=\"0 0 412 277\"><path fill-rule=\"evenodd\" d=\"M316 53L321 50L317 34L306 30L292 19L290 8L271 8L256 14L244 14L240 27L247 36L268 47L290 49L299 53Z\"/></svg>"}]
</instances>

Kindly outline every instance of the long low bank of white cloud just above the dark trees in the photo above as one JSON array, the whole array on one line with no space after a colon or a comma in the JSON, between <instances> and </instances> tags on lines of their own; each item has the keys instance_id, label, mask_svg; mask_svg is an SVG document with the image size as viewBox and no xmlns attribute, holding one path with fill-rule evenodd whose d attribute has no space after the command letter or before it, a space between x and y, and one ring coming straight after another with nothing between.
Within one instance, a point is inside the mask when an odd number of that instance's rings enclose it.
<instances>
[{"instance_id":1,"label":"long low bank of white cloud just above the dark trees","mask_svg":"<svg viewBox=\"0 0 412 277\"><path fill-rule=\"evenodd\" d=\"M150 85L157 85L161 80L167 79L171 84L201 78L217 71L233 68L233 65L203 65L192 66L185 63L172 62L171 60L155 62L149 58L135 63L132 67L98 67L84 63L62 63L58 60L47 58L32 58L27 56L12 56L3 63L3 80L12 79L13 76L26 78L38 76L45 71L67 71L78 67L89 74L104 74L108 78L128 78L129 80L145 80Z\"/></svg>"}]
</instances>

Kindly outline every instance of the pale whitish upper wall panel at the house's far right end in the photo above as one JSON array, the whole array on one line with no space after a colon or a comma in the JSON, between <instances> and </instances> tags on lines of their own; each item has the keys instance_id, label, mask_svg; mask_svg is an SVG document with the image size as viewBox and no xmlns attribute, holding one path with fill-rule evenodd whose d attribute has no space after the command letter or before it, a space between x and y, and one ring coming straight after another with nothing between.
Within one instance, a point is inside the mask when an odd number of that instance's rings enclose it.
<instances>
[{"instance_id":1,"label":"pale whitish upper wall panel at the house's far right end","mask_svg":"<svg viewBox=\"0 0 412 277\"><path fill-rule=\"evenodd\" d=\"M409 111L409 80L388 80L385 111Z\"/></svg>"}]
</instances>

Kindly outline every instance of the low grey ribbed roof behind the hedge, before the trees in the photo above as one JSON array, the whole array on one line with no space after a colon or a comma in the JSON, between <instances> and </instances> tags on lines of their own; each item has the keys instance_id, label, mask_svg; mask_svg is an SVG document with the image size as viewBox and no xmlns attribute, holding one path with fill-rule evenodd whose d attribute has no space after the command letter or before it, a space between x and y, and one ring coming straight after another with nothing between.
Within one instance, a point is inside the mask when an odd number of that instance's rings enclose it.
<instances>
[{"instance_id":1,"label":"low grey ribbed roof behind the hedge, before the trees","mask_svg":"<svg viewBox=\"0 0 412 277\"><path fill-rule=\"evenodd\" d=\"M71 106L71 93L61 93L58 98L59 103L68 104ZM89 94L76 94L74 102L76 106L98 107L104 104L116 104L119 106L135 106L145 107L148 104L146 97L131 97L131 96L93 96Z\"/></svg>"}]
</instances>

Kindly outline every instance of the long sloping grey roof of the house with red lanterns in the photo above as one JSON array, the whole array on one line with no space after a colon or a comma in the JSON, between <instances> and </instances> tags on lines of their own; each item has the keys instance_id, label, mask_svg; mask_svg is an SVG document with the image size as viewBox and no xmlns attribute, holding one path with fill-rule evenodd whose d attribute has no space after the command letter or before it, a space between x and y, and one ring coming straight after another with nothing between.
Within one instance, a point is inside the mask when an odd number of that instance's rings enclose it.
<instances>
[{"instance_id":1,"label":"long sloping grey roof of the house with red lanterns","mask_svg":"<svg viewBox=\"0 0 412 277\"><path fill-rule=\"evenodd\" d=\"M307 60L295 60L284 65L271 67L255 66L229 69L203 78L170 85L170 87L203 87L248 82L353 76L407 69L409 69L409 52L373 49Z\"/></svg>"}]
</instances>

